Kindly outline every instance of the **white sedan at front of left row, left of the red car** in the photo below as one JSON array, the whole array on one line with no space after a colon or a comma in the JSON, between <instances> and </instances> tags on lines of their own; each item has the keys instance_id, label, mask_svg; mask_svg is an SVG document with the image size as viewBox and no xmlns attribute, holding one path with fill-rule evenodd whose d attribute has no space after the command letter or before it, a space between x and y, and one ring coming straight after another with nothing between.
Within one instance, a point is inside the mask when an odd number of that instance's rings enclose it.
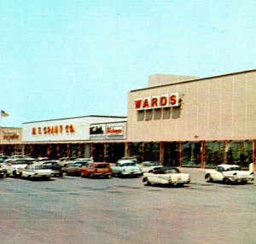
<instances>
[{"instance_id":1,"label":"white sedan at front of left row, left of the red car","mask_svg":"<svg viewBox=\"0 0 256 244\"><path fill-rule=\"evenodd\" d=\"M54 177L54 171L45 169L44 165L28 165L21 171L21 177L27 179Z\"/></svg>"}]
</instances>

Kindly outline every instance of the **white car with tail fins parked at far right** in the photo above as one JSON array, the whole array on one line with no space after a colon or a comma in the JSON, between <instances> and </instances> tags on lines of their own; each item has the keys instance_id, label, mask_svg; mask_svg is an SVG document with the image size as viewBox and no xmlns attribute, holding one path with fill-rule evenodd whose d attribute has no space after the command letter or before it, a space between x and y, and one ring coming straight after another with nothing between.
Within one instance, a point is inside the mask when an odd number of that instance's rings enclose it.
<instances>
[{"instance_id":1,"label":"white car with tail fins parked at far right","mask_svg":"<svg viewBox=\"0 0 256 244\"><path fill-rule=\"evenodd\" d=\"M207 183L247 183L254 180L253 171L243 171L241 166L219 165L214 170L207 170L205 179Z\"/></svg>"}]
</instances>

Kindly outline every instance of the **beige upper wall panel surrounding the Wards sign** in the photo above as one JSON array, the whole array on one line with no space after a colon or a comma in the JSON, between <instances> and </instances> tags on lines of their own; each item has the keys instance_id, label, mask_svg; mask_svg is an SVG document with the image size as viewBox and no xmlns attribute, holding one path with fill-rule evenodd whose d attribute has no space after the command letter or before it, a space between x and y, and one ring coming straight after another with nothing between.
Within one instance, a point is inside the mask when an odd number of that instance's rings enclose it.
<instances>
[{"instance_id":1,"label":"beige upper wall panel surrounding the Wards sign","mask_svg":"<svg viewBox=\"0 0 256 244\"><path fill-rule=\"evenodd\" d=\"M137 112L137 98L178 92L181 107ZM128 141L256 139L256 71L133 90ZM144 116L144 118L143 118Z\"/></svg>"}]
</instances>

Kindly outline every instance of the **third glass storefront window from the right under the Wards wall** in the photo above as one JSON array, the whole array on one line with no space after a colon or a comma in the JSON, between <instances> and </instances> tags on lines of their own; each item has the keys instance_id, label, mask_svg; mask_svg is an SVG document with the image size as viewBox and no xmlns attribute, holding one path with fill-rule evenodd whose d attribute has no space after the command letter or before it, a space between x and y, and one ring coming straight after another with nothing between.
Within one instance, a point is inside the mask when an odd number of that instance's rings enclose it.
<instances>
[{"instance_id":1,"label":"third glass storefront window from the right under the Wards wall","mask_svg":"<svg viewBox=\"0 0 256 244\"><path fill-rule=\"evenodd\" d=\"M183 142L182 166L201 167L201 142Z\"/></svg>"}]
</instances>

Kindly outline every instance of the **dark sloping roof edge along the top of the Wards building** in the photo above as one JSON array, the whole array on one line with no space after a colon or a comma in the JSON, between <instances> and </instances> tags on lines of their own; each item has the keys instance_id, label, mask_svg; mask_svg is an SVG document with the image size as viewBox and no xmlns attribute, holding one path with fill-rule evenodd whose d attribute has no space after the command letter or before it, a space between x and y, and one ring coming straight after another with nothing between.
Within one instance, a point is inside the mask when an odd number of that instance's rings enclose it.
<instances>
[{"instance_id":1,"label":"dark sloping roof edge along the top of the Wards building","mask_svg":"<svg viewBox=\"0 0 256 244\"><path fill-rule=\"evenodd\" d=\"M195 81L200 81L200 80L206 80L209 78L220 78L220 77L226 77L226 76L230 76L230 75L238 75L238 74L242 74L242 73L253 73L253 72L256 72L256 69L241 71L241 72L236 72L236 73L220 74L220 75L210 76L210 77L205 77L205 78L195 78L195 79L188 79L188 80L177 81L177 82L170 82L170 84L160 84L160 85L150 86L150 87L146 87L146 88L131 90L130 92L136 92L139 90L152 90L152 89L156 89L156 88L160 88L160 87L166 87L171 84L183 84L183 83L195 82Z\"/></svg>"}]
</instances>

